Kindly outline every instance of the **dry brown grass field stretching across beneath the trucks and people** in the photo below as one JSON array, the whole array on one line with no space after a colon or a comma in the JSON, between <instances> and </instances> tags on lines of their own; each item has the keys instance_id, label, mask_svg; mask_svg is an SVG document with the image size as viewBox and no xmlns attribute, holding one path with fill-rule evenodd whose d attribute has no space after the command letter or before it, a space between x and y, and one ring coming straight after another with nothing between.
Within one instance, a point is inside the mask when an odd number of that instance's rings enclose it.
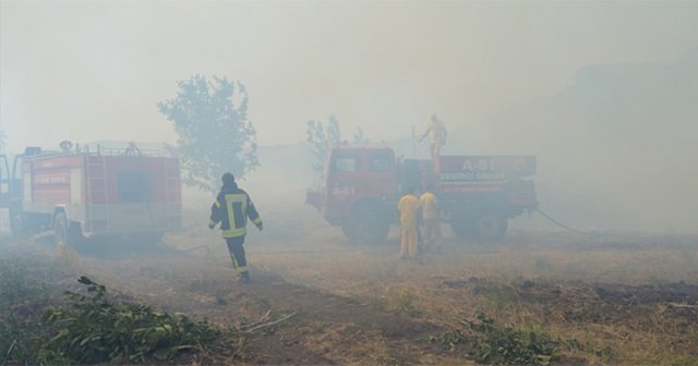
<instances>
[{"instance_id":1,"label":"dry brown grass field stretching across beneath the trucks and people","mask_svg":"<svg viewBox=\"0 0 698 366\"><path fill-rule=\"evenodd\" d=\"M86 274L167 312L263 326L234 352L182 363L698 364L696 236L513 230L478 244L445 231L410 261L397 257L397 231L358 244L286 213L249 235L249 285L233 280L218 233L195 220L152 248L5 237L1 255L60 268L33 270L58 288Z\"/></svg>"}]
</instances>

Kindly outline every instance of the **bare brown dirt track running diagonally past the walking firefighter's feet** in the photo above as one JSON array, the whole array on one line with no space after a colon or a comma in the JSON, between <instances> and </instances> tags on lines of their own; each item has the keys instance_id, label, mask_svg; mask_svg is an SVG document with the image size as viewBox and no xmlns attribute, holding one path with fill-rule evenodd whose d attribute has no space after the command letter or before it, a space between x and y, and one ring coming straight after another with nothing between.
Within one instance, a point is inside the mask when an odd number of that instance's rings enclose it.
<instances>
[{"instance_id":1,"label":"bare brown dirt track running diagonally past the walking firefighter's feet","mask_svg":"<svg viewBox=\"0 0 698 366\"><path fill-rule=\"evenodd\" d=\"M71 248L48 249L70 264L73 270L63 272L60 282L73 290L71 279L88 274L111 289L112 296L205 317L224 328L260 322L260 329L245 334L244 345L236 345L240 350L208 354L205 362L327 365L456 359L421 341L445 331L437 326L360 298L289 283L270 271L253 267L253 282L241 284L228 264L204 259L206 265L201 257L171 247L120 253L117 259L111 253L97 258L92 251L85 253L93 257ZM285 320L273 324L280 319Z\"/></svg>"}]
</instances>

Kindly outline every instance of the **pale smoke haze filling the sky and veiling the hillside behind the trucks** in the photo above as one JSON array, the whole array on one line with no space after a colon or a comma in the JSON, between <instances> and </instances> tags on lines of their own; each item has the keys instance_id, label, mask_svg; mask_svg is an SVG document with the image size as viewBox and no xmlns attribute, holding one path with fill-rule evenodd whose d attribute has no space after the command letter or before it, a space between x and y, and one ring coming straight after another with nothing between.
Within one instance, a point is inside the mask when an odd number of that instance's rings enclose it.
<instances>
[{"instance_id":1,"label":"pale smoke haze filling the sky and veiling the hillside behind the trucks","mask_svg":"<svg viewBox=\"0 0 698 366\"><path fill-rule=\"evenodd\" d=\"M392 144L437 112L444 154L535 155L541 207L570 224L698 230L696 2L0 7L9 150L173 143L156 102L194 73L226 75L263 145L243 185L268 205L302 204L305 162L275 157L303 156L308 120L334 113L346 138L361 126Z\"/></svg>"}]
</instances>

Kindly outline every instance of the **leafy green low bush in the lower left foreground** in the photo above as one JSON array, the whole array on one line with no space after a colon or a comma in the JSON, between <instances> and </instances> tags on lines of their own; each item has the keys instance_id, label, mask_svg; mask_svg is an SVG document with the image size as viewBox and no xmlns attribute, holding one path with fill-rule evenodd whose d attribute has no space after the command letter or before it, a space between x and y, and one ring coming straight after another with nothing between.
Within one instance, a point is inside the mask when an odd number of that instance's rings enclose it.
<instances>
[{"instance_id":1,"label":"leafy green low bush in the lower left foreground","mask_svg":"<svg viewBox=\"0 0 698 366\"><path fill-rule=\"evenodd\" d=\"M43 316L55 330L38 353L43 364L165 361L180 352L203 351L221 335L206 320L172 317L144 304L112 304L104 285L84 276L79 282L89 295L65 292L71 307L52 308Z\"/></svg>"}]
</instances>

